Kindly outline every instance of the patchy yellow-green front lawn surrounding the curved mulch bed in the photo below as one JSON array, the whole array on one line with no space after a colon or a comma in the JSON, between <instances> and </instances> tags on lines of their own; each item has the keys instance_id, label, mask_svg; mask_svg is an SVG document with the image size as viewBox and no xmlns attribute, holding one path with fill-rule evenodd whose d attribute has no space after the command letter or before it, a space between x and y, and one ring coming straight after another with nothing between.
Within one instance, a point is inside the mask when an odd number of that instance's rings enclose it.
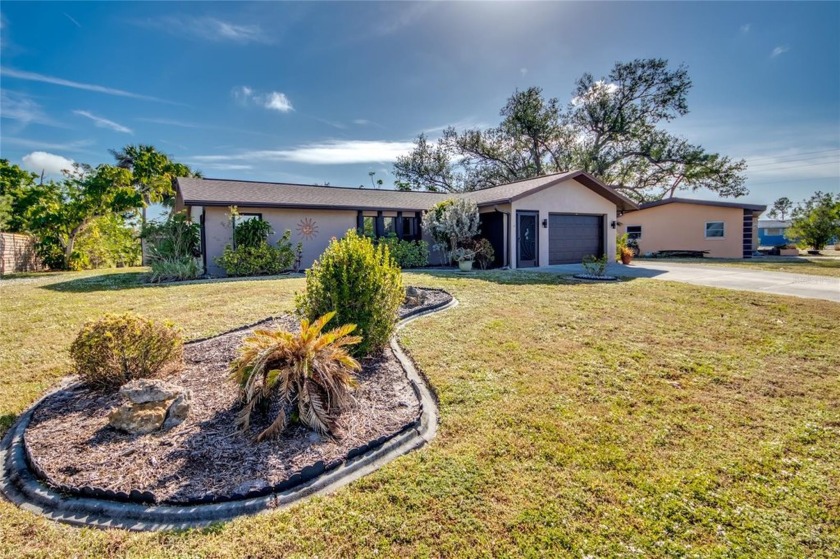
<instances>
[{"instance_id":1,"label":"patchy yellow-green front lawn surrounding the curved mulch bed","mask_svg":"<svg viewBox=\"0 0 840 559\"><path fill-rule=\"evenodd\" d=\"M291 309L304 285L138 277L0 282L0 430L67 372L89 317L207 336ZM840 555L840 305L644 279L406 279L461 303L401 334L440 399L430 445L334 495L186 533L0 503L0 556Z\"/></svg>"}]
</instances>

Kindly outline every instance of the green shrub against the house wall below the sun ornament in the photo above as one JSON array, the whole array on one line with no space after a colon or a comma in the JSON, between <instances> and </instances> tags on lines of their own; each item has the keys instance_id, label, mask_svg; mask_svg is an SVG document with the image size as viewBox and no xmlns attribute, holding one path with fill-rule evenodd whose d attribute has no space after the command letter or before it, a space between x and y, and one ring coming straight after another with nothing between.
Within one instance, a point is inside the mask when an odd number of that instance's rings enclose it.
<instances>
[{"instance_id":1,"label":"green shrub against the house wall below the sun ornament","mask_svg":"<svg viewBox=\"0 0 840 559\"><path fill-rule=\"evenodd\" d=\"M267 242L256 246L238 245L236 248L228 245L222 255L216 258L216 264L224 268L225 273L231 277L281 274L296 267L302 250L300 243L292 246L289 240L291 236L291 231L283 233L277 241L277 246L271 246Z\"/></svg>"}]
</instances>

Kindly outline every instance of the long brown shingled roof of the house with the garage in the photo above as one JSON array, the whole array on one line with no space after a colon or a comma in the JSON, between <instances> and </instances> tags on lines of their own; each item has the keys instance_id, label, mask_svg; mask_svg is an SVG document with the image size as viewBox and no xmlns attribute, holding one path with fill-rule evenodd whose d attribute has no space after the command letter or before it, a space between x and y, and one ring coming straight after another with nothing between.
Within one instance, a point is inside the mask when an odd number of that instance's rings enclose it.
<instances>
[{"instance_id":1,"label":"long brown shingled roof of the house with the garage","mask_svg":"<svg viewBox=\"0 0 840 559\"><path fill-rule=\"evenodd\" d=\"M506 204L570 179L614 202L619 209L637 208L632 200L583 171L545 175L457 194L184 177L175 183L181 202L187 206L422 211L456 196L473 200L478 206Z\"/></svg>"}]
</instances>

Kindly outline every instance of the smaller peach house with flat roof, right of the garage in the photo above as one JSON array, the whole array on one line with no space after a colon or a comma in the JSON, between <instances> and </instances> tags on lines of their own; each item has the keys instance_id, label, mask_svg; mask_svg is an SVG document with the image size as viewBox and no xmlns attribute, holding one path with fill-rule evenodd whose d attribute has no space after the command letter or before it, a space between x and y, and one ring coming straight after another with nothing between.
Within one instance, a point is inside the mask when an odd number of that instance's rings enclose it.
<instances>
[{"instance_id":1,"label":"smaller peach house with flat roof, right of the garage","mask_svg":"<svg viewBox=\"0 0 840 559\"><path fill-rule=\"evenodd\" d=\"M662 250L708 251L712 258L752 258L758 216L766 206L667 198L642 204L621 218L620 233L636 239L642 254Z\"/></svg>"}]
</instances>

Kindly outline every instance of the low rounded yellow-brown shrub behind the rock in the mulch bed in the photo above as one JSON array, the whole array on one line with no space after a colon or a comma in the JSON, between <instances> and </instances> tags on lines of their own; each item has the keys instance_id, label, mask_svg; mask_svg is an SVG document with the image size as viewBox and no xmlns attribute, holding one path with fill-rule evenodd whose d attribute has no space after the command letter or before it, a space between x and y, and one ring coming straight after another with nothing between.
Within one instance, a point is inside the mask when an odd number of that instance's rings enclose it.
<instances>
[{"instance_id":1,"label":"low rounded yellow-brown shrub behind the rock in the mulch bed","mask_svg":"<svg viewBox=\"0 0 840 559\"><path fill-rule=\"evenodd\" d=\"M70 357L85 383L114 389L174 367L181 362L183 348L181 334L171 324L132 313L106 314L82 327Z\"/></svg>"}]
</instances>

